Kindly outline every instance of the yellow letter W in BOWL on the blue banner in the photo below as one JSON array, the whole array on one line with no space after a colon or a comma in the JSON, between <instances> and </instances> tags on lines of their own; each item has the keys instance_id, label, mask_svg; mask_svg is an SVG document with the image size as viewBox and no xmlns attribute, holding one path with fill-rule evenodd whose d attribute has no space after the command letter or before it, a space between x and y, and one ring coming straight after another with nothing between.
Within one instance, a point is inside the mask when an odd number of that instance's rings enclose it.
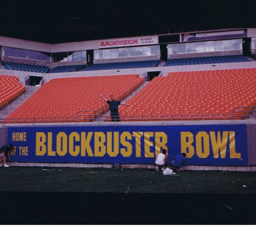
<instances>
[{"instance_id":1,"label":"yellow letter W in BOWL on the blue banner","mask_svg":"<svg viewBox=\"0 0 256 227\"><path fill-rule=\"evenodd\" d=\"M226 157L228 135L229 135L229 132L224 131L223 136L221 138L220 132L218 131L217 139L216 139L215 132L210 132L214 158L219 158L219 152L220 152L220 158L224 159Z\"/></svg>"}]
</instances>

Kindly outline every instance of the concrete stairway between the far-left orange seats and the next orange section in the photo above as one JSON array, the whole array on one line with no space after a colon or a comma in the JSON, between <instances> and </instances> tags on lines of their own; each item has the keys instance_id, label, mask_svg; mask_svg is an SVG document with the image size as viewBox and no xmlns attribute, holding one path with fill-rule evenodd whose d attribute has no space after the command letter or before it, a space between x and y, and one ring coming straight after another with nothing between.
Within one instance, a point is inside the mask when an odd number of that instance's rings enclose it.
<instances>
[{"instance_id":1,"label":"concrete stairway between the far-left orange seats and the next orange section","mask_svg":"<svg viewBox=\"0 0 256 227\"><path fill-rule=\"evenodd\" d=\"M30 96L32 96L40 87L26 86L24 94L20 95L15 101L11 102L6 108L0 110L0 122L5 119L12 111L24 103Z\"/></svg>"}]
</instances>

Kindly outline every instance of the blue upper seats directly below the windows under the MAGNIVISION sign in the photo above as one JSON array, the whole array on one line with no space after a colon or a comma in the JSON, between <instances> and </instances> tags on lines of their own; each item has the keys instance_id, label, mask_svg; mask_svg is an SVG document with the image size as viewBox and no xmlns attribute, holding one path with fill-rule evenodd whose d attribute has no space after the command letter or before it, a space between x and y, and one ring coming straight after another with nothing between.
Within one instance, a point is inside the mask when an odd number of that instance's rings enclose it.
<instances>
[{"instance_id":1,"label":"blue upper seats directly below the windows under the MAGNIVISION sign","mask_svg":"<svg viewBox=\"0 0 256 227\"><path fill-rule=\"evenodd\" d=\"M160 62L159 60L150 60L150 61L99 63L99 64L88 66L82 69L81 71L157 67L159 62Z\"/></svg>"}]
</instances>

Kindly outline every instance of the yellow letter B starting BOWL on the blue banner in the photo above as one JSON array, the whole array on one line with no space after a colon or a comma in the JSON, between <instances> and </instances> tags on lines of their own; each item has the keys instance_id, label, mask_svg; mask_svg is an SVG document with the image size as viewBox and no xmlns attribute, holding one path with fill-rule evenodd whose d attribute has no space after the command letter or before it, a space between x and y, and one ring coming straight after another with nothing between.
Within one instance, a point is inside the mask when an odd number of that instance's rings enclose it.
<instances>
[{"instance_id":1,"label":"yellow letter B starting BOWL on the blue banner","mask_svg":"<svg viewBox=\"0 0 256 227\"><path fill-rule=\"evenodd\" d=\"M193 140L191 132L181 132L181 153L186 153L186 158L191 158L195 154Z\"/></svg>"}]
</instances>

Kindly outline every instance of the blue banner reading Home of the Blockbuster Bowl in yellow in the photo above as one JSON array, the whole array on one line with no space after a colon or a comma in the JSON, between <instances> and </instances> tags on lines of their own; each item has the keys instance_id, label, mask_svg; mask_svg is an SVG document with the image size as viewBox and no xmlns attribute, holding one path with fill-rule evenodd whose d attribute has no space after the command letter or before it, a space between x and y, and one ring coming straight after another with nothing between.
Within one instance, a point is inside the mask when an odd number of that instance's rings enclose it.
<instances>
[{"instance_id":1,"label":"blue banner reading Home of the Blockbuster Bowl in yellow","mask_svg":"<svg viewBox=\"0 0 256 227\"><path fill-rule=\"evenodd\" d=\"M12 161L155 164L164 148L168 165L246 166L246 125L8 127Z\"/></svg>"}]
</instances>

